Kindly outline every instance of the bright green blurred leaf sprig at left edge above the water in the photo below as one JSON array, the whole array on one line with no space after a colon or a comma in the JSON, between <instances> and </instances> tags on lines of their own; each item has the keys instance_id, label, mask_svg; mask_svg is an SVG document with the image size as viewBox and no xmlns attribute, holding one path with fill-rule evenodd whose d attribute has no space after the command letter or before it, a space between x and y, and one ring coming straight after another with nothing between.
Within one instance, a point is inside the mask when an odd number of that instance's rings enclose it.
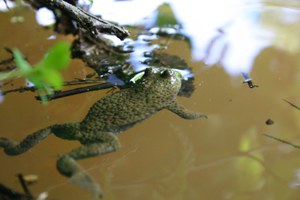
<instances>
[{"instance_id":1,"label":"bright green blurred leaf sprig at left edge above the water","mask_svg":"<svg viewBox=\"0 0 300 200\"><path fill-rule=\"evenodd\" d=\"M13 55L17 68L11 72L0 73L0 81L22 76L34 84L43 103L47 103L46 95L53 94L53 89L62 88L63 77L60 70L67 68L71 61L68 43L59 42L54 45L33 67L24 59L19 50L13 50Z\"/></svg>"}]
</instances>

